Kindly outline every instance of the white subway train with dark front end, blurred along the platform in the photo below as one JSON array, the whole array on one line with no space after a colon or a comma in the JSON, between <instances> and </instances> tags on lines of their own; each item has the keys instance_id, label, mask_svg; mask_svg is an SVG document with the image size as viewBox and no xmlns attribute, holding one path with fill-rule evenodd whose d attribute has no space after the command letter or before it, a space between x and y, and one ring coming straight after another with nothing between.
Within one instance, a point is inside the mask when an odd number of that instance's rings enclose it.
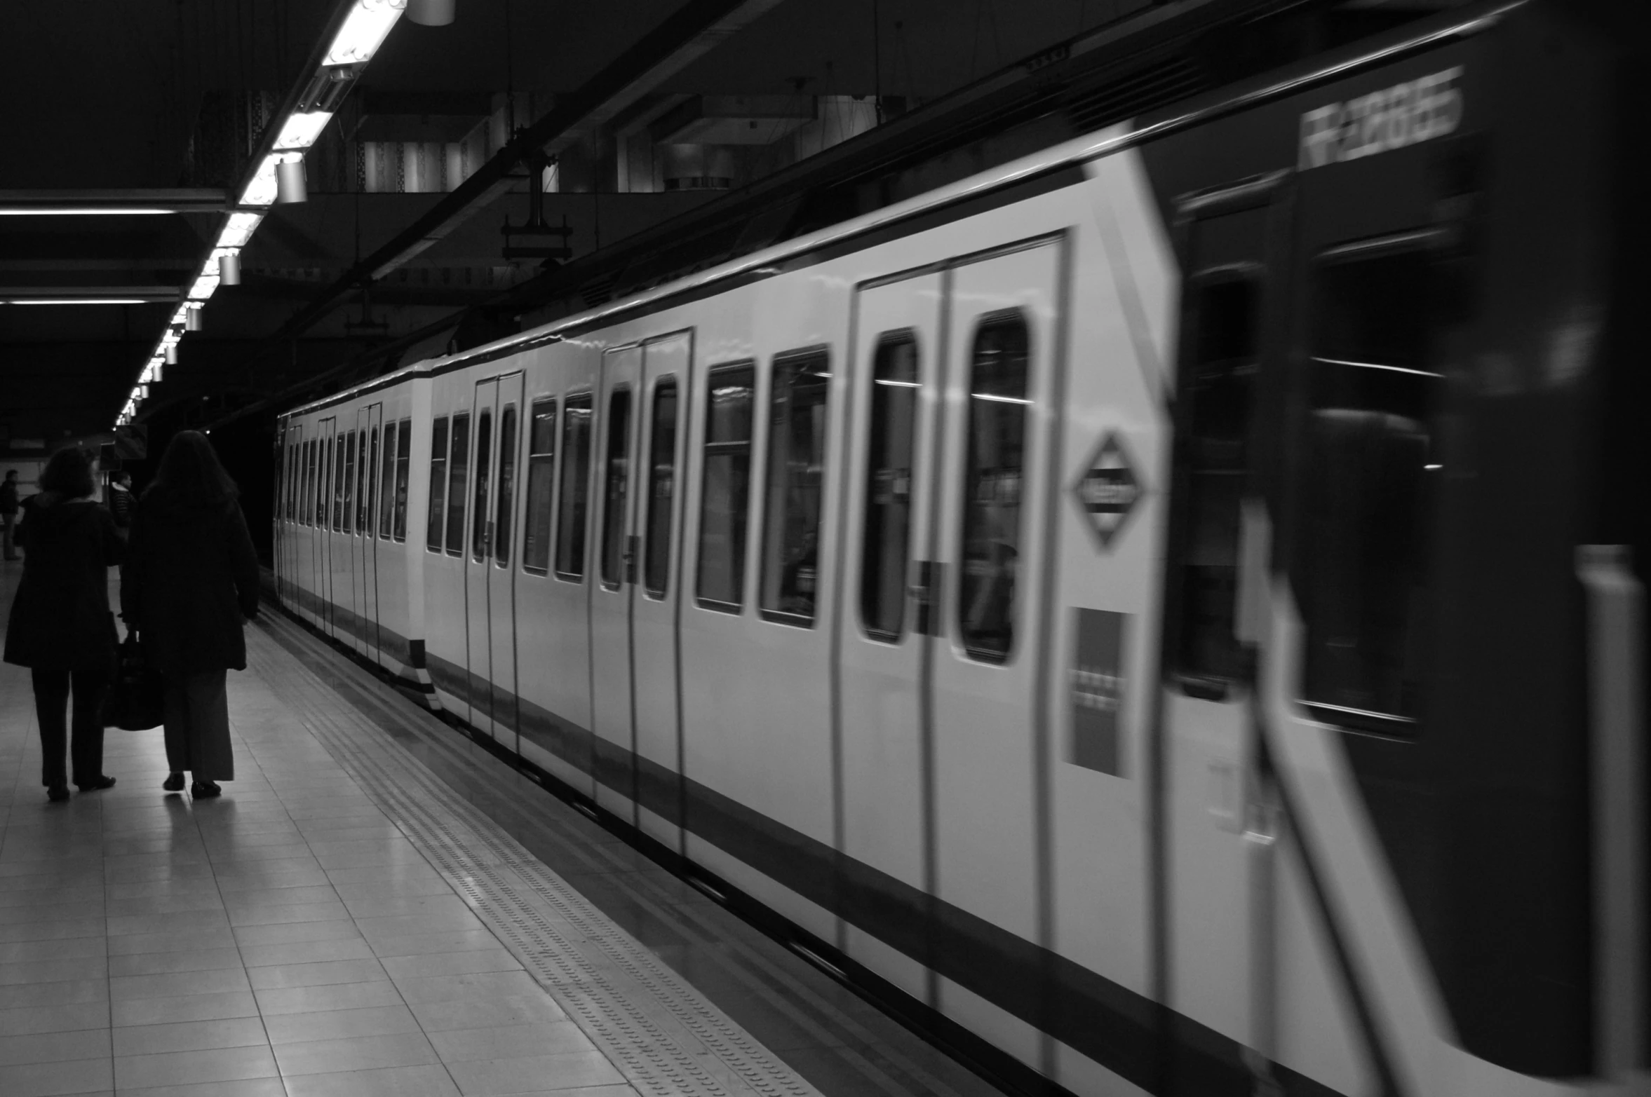
<instances>
[{"instance_id":1,"label":"white subway train with dark front end, blurred along the platform","mask_svg":"<svg viewBox=\"0 0 1651 1097\"><path fill-rule=\"evenodd\" d=\"M1453 8L296 407L281 599L1024 1089L1651 1092L1600 12Z\"/></svg>"}]
</instances>

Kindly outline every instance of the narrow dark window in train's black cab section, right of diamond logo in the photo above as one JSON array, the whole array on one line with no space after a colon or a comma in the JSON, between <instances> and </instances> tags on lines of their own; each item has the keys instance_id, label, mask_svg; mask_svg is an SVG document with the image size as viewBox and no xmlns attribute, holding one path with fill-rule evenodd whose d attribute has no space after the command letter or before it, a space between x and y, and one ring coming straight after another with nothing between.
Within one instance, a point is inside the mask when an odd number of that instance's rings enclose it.
<instances>
[{"instance_id":1,"label":"narrow dark window in train's black cab section, right of diamond logo","mask_svg":"<svg viewBox=\"0 0 1651 1097\"><path fill-rule=\"evenodd\" d=\"M1238 676L1238 505L1248 464L1260 287L1248 274L1220 272L1189 289L1192 353L1179 384L1185 533L1176 668L1185 688L1204 696Z\"/></svg>"}]
</instances>

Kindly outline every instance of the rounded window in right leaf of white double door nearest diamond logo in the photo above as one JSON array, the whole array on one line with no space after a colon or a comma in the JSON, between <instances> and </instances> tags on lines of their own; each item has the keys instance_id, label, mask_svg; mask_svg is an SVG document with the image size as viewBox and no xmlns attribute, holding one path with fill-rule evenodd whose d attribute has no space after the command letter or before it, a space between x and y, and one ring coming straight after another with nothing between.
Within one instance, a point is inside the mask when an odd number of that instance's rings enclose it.
<instances>
[{"instance_id":1,"label":"rounded window in right leaf of white double door nearest diamond logo","mask_svg":"<svg viewBox=\"0 0 1651 1097\"><path fill-rule=\"evenodd\" d=\"M982 663L1005 663L1015 642L1027 407L1027 325L987 317L969 365L969 464L963 478L958 632Z\"/></svg>"}]
</instances>

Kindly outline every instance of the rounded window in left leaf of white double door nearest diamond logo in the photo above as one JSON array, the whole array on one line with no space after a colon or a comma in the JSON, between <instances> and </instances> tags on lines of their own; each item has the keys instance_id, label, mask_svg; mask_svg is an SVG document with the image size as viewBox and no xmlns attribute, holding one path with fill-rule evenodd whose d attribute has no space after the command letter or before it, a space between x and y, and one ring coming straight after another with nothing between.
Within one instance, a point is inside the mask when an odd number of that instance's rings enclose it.
<instances>
[{"instance_id":1,"label":"rounded window in left leaf of white double door nearest diamond logo","mask_svg":"<svg viewBox=\"0 0 1651 1097\"><path fill-rule=\"evenodd\" d=\"M918 416L918 343L883 335L872 363L872 424L860 541L860 622L877 640L898 640L906 620L911 553L911 449Z\"/></svg>"}]
</instances>

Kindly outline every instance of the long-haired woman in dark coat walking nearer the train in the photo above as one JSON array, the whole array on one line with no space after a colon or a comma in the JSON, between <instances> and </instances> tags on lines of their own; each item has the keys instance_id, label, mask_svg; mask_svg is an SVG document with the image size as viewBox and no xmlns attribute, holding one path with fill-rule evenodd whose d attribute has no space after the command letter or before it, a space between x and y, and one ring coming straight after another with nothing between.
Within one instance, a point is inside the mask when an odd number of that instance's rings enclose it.
<instances>
[{"instance_id":1,"label":"long-haired woman in dark coat walking nearer the train","mask_svg":"<svg viewBox=\"0 0 1651 1097\"><path fill-rule=\"evenodd\" d=\"M258 615L258 556L234 480L200 431L172 439L132 518L121 610L167 680L162 789L196 798L234 780L225 671L246 670L241 622Z\"/></svg>"}]
</instances>

